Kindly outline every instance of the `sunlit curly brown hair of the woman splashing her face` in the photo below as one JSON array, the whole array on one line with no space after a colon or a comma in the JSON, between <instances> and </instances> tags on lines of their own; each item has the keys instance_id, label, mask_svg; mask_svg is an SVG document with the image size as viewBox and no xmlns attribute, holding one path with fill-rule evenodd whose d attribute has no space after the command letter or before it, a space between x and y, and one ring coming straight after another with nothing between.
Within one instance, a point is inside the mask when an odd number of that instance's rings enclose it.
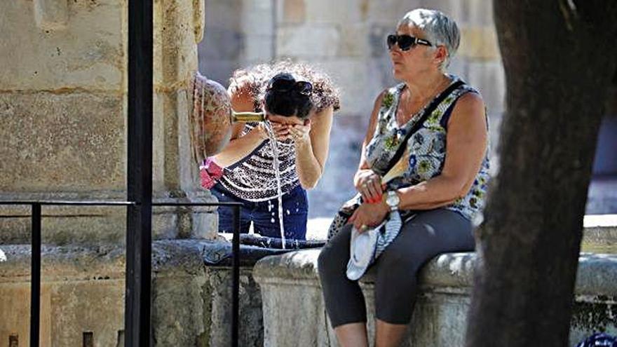
<instances>
[{"instance_id":1,"label":"sunlit curly brown hair of the woman splashing her face","mask_svg":"<svg viewBox=\"0 0 617 347\"><path fill-rule=\"evenodd\" d=\"M287 59L237 69L229 79L229 88L230 90L248 90L255 111L260 111L265 101L268 82L273 76L281 73L292 74L292 76L311 82L313 93L310 100L317 112L323 111L327 107L333 107L334 111L341 108L339 89L334 86L330 76L306 62L294 62Z\"/></svg>"}]
</instances>

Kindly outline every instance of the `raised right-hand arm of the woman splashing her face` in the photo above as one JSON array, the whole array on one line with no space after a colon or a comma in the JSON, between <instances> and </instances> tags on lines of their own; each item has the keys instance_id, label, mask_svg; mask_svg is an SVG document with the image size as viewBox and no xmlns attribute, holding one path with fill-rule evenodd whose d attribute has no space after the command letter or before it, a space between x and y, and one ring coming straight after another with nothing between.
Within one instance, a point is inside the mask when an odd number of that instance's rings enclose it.
<instances>
[{"instance_id":1,"label":"raised right-hand arm of the woman splashing her face","mask_svg":"<svg viewBox=\"0 0 617 347\"><path fill-rule=\"evenodd\" d=\"M310 127L308 137L299 137L295 140L296 172L304 189L315 187L323 175L330 149L333 115L334 108L327 107L314 114L305 125L300 125L300 127Z\"/></svg>"}]
</instances>

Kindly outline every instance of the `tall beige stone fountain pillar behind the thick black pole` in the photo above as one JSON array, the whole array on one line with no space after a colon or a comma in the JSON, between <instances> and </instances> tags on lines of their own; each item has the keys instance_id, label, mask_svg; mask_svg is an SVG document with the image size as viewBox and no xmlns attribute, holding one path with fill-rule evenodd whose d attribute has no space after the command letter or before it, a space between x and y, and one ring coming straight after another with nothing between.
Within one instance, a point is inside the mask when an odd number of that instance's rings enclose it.
<instances>
[{"instance_id":1,"label":"tall beige stone fountain pillar behind the thick black pole","mask_svg":"<svg viewBox=\"0 0 617 347\"><path fill-rule=\"evenodd\" d=\"M214 198L187 130L203 0L154 1L154 198ZM127 4L0 3L0 199L125 200ZM155 238L215 237L214 209L154 209ZM29 242L27 207L0 206L0 243ZM44 207L44 243L125 240L123 207Z\"/></svg>"}]
</instances>

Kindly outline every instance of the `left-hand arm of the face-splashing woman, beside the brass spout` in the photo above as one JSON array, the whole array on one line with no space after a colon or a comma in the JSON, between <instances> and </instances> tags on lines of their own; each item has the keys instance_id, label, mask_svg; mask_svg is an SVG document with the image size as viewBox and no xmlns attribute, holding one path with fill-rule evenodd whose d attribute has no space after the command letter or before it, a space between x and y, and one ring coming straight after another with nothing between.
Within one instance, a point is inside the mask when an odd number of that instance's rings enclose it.
<instances>
[{"instance_id":1,"label":"left-hand arm of the face-splashing woman, beside the brass spout","mask_svg":"<svg viewBox=\"0 0 617 347\"><path fill-rule=\"evenodd\" d=\"M230 86L228 93L231 97L231 108L234 111L253 111L253 100L248 91L248 86ZM244 126L245 123L242 122L233 124L229 144L214 157L217 164L226 167L240 161L268 138L261 124L247 134L240 135Z\"/></svg>"}]
</instances>

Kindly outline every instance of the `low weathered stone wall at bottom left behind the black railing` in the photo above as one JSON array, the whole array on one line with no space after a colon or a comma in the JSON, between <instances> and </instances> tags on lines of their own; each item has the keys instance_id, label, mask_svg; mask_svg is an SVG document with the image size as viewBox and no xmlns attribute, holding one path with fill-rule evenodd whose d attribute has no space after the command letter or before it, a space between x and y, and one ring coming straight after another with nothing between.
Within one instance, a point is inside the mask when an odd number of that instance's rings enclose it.
<instances>
[{"instance_id":1,"label":"low weathered stone wall at bottom left behind the black railing","mask_svg":"<svg viewBox=\"0 0 617 347\"><path fill-rule=\"evenodd\" d=\"M231 269L205 266L213 243L157 241L152 260L154 346L231 344ZM41 346L124 346L121 246L43 247ZM0 346L29 346L29 247L0 245ZM261 295L240 271L240 346L263 345ZM84 343L89 339L92 344Z\"/></svg>"}]
</instances>

